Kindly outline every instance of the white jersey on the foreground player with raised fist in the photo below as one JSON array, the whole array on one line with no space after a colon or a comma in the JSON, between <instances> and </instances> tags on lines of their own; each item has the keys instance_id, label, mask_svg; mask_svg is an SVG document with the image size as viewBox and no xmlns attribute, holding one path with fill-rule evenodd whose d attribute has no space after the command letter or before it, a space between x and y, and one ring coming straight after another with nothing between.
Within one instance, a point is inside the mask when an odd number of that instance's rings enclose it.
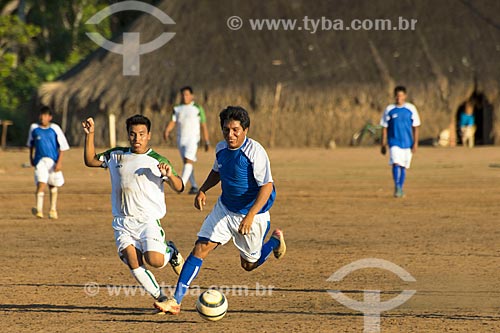
<instances>
[{"instance_id":1,"label":"white jersey on the foreground player with raised fist","mask_svg":"<svg viewBox=\"0 0 500 333\"><path fill-rule=\"evenodd\" d=\"M111 205L114 217L133 217L140 221L158 220L165 216L163 179L160 162L170 162L149 149L134 154L130 148L113 148L97 155L111 177ZM174 175L177 173L173 170Z\"/></svg>"}]
</instances>

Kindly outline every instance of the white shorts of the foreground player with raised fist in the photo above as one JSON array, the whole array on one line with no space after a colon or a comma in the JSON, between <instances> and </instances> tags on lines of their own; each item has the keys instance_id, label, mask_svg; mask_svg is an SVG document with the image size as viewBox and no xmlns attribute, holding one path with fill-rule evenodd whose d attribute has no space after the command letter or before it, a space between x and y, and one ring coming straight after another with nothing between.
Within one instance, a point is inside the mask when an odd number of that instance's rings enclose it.
<instances>
[{"instance_id":1,"label":"white shorts of the foreground player with raised fist","mask_svg":"<svg viewBox=\"0 0 500 333\"><path fill-rule=\"evenodd\" d=\"M131 217L115 217L113 230L120 257L121 252L129 245L142 253L153 251L165 254L167 251L165 232L159 220L141 222Z\"/></svg>"}]
</instances>

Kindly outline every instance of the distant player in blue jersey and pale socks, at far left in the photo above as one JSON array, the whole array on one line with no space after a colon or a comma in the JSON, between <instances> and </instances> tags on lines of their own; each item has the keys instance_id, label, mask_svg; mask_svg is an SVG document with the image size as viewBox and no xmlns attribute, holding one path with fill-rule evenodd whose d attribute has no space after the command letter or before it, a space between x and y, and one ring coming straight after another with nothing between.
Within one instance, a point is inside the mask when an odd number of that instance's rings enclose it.
<instances>
[{"instance_id":1,"label":"distant player in blue jersey and pale socks, at far left","mask_svg":"<svg viewBox=\"0 0 500 333\"><path fill-rule=\"evenodd\" d=\"M57 219L57 188L64 184L62 174L63 152L69 149L63 131L52 121L52 111L48 106L40 109L39 122L31 124L27 146L30 147L30 162L35 167L36 206L33 215L43 218L45 187L49 185L49 218Z\"/></svg>"}]
</instances>

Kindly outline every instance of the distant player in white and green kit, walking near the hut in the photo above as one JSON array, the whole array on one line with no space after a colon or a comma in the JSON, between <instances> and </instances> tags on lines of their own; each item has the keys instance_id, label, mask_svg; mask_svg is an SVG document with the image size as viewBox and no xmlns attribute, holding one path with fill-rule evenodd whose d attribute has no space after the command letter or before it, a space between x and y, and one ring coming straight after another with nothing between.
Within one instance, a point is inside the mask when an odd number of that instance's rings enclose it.
<instances>
[{"instance_id":1,"label":"distant player in white and green kit, walking near the hut","mask_svg":"<svg viewBox=\"0 0 500 333\"><path fill-rule=\"evenodd\" d=\"M174 107L172 119L165 128L165 140L169 139L170 132L177 125L177 147L184 162L182 169L182 181L191 183L189 194L198 193L198 185L194 177L194 163L198 143L200 142L200 129L203 133L205 151L208 151L210 141L208 139L207 118L205 110L194 102L193 89L189 86L182 87L182 103Z\"/></svg>"}]
</instances>

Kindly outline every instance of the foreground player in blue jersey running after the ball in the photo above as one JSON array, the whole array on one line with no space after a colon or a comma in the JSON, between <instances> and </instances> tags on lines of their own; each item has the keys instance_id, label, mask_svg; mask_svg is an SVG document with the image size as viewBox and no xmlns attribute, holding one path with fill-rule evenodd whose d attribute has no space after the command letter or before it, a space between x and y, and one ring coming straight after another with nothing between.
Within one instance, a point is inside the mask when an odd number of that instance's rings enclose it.
<instances>
[{"instance_id":1,"label":"foreground player in blue jersey running after the ball","mask_svg":"<svg viewBox=\"0 0 500 333\"><path fill-rule=\"evenodd\" d=\"M250 126L247 111L228 106L219 117L224 141L216 146L213 168L200 187L194 206L203 210L205 193L219 182L222 194L198 232L198 240L179 276L174 298L155 302L155 307L163 312L180 312L182 299L198 275L203 260L218 245L232 239L240 251L241 266L247 271L262 265L271 252L280 259L286 251L280 229L274 230L264 243L271 226L269 209L276 190L266 151L257 141L247 137Z\"/></svg>"}]
</instances>

